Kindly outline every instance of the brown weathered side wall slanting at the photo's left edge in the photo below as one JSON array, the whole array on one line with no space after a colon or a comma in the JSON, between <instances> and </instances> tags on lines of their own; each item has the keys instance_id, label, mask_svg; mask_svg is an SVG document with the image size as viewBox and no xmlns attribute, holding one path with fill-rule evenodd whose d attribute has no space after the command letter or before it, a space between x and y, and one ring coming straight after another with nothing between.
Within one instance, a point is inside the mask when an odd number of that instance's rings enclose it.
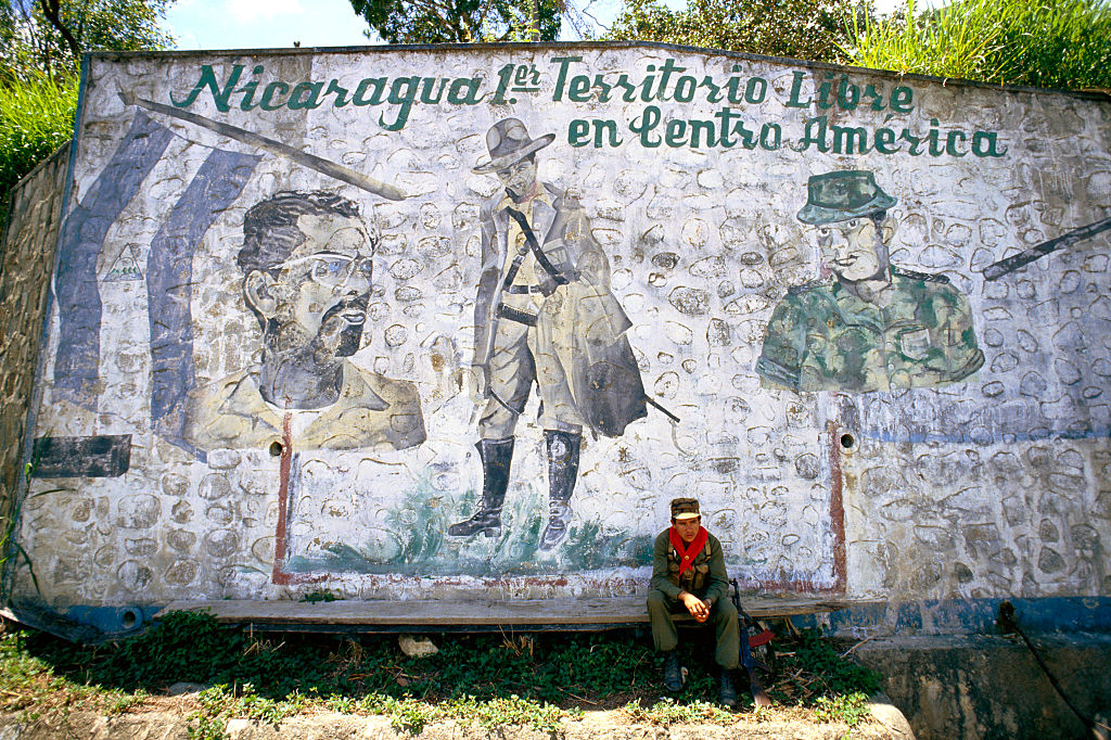
<instances>
[{"instance_id":1,"label":"brown weathered side wall slanting at the photo's left edge","mask_svg":"<svg viewBox=\"0 0 1111 740\"><path fill-rule=\"evenodd\" d=\"M7 524L23 471L23 439L61 224L69 144L12 190L0 249L0 521Z\"/></svg>"}]
</instances>

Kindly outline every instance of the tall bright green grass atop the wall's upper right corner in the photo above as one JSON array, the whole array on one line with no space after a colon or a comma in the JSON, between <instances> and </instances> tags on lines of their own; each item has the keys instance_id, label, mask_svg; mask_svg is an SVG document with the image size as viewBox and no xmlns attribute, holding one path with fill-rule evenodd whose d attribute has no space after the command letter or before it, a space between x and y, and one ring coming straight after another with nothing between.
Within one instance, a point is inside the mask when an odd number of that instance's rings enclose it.
<instances>
[{"instance_id":1,"label":"tall bright green grass atop the wall's upper right corner","mask_svg":"<svg viewBox=\"0 0 1111 740\"><path fill-rule=\"evenodd\" d=\"M1064 89L1111 88L1105 0L954 0L845 20L850 63L901 73Z\"/></svg>"}]
</instances>

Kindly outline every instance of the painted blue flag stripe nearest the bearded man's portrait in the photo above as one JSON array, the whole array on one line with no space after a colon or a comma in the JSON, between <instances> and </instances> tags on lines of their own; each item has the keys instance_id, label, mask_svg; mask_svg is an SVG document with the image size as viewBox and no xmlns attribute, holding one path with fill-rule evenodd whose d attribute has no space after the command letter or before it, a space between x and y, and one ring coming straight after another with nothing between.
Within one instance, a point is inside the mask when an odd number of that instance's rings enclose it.
<instances>
[{"instance_id":1,"label":"painted blue flag stripe nearest the bearded man's portrait","mask_svg":"<svg viewBox=\"0 0 1111 740\"><path fill-rule=\"evenodd\" d=\"M147 294L150 319L151 398L154 431L203 459L183 439L186 397L193 372L193 252L204 233L243 191L261 157L217 149L173 206L150 243Z\"/></svg>"}]
</instances>

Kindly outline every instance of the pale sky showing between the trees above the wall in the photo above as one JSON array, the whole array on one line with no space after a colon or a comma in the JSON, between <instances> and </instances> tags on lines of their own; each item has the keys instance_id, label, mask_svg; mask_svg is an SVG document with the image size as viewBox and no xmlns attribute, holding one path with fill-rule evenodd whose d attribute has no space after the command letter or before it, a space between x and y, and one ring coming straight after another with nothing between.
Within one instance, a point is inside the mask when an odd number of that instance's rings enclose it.
<instances>
[{"instance_id":1,"label":"pale sky showing between the trees above the wall","mask_svg":"<svg viewBox=\"0 0 1111 740\"><path fill-rule=\"evenodd\" d=\"M665 0L672 8L685 0ZM900 0L879 0L888 10ZM621 0L592 0L590 14L609 22ZM177 48L280 49L300 41L302 47L366 46L366 21L354 14L348 0L177 0L167 13L167 26ZM564 23L564 27L567 23ZM575 40L564 34L565 41Z\"/></svg>"}]
</instances>

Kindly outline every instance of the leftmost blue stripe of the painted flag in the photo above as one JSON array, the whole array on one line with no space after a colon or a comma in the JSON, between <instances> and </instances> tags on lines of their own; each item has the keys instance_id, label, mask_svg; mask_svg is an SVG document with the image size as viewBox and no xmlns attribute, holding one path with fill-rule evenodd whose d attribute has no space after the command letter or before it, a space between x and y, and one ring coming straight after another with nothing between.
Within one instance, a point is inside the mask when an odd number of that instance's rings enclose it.
<instances>
[{"instance_id":1,"label":"leftmost blue stripe of the painted flag","mask_svg":"<svg viewBox=\"0 0 1111 740\"><path fill-rule=\"evenodd\" d=\"M162 157L173 134L137 112L108 167L66 218L54 279L60 328L54 392L86 407L96 403L100 378L100 291L97 259L116 219Z\"/></svg>"}]
</instances>

